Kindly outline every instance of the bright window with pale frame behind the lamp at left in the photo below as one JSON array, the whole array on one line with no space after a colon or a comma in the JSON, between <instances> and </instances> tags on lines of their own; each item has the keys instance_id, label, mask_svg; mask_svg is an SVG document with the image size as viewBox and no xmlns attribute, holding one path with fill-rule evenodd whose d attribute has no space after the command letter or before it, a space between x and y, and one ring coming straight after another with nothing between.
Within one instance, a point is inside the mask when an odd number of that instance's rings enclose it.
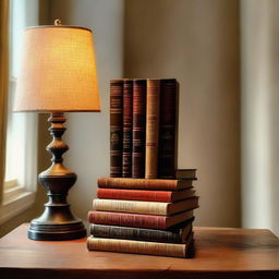
<instances>
[{"instance_id":1,"label":"bright window with pale frame behind the lamp at left","mask_svg":"<svg viewBox=\"0 0 279 279\"><path fill-rule=\"evenodd\" d=\"M37 185L37 116L13 113L23 31L38 25L39 0L10 1L10 83L5 179L0 223L31 207Z\"/></svg>"}]
</instances>

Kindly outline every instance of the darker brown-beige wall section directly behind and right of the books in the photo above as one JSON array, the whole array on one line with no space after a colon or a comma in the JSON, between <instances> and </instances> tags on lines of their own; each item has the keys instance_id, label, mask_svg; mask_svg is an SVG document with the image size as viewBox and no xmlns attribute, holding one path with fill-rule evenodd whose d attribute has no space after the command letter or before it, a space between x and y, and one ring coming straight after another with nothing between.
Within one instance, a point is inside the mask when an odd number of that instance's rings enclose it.
<instances>
[{"instance_id":1,"label":"darker brown-beige wall section directly behind and right of the books","mask_svg":"<svg viewBox=\"0 0 279 279\"><path fill-rule=\"evenodd\" d=\"M180 82L179 167L197 168L196 225L240 226L239 4L125 1L125 77Z\"/></svg>"}]
</instances>

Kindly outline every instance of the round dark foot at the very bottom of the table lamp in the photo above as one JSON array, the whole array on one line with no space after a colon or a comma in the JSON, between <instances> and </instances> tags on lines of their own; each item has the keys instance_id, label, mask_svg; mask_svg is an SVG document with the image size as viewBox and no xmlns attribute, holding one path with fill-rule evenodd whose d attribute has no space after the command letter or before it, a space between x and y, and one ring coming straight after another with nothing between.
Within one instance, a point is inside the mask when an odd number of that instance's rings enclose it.
<instances>
[{"instance_id":1,"label":"round dark foot at the very bottom of the table lamp","mask_svg":"<svg viewBox=\"0 0 279 279\"><path fill-rule=\"evenodd\" d=\"M71 223L44 223L34 219L28 229L28 239L45 241L74 240L86 236L86 230L81 220Z\"/></svg>"}]
</instances>

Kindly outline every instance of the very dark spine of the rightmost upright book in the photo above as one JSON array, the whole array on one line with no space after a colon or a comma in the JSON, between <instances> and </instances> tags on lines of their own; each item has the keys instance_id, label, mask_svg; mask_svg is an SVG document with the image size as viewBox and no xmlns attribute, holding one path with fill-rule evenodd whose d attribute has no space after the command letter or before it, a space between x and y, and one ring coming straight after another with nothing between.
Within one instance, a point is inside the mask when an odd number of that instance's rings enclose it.
<instances>
[{"instance_id":1,"label":"very dark spine of the rightmost upright book","mask_svg":"<svg viewBox=\"0 0 279 279\"><path fill-rule=\"evenodd\" d=\"M174 178L177 167L177 81L161 80L158 177Z\"/></svg>"}]
</instances>

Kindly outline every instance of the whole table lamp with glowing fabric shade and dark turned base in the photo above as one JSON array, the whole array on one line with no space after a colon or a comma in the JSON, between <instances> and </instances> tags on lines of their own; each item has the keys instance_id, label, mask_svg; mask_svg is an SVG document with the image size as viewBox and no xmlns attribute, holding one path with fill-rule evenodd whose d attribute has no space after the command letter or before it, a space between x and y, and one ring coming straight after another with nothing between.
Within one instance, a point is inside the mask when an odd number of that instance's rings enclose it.
<instances>
[{"instance_id":1,"label":"whole table lamp with glowing fabric shade and dark turned base","mask_svg":"<svg viewBox=\"0 0 279 279\"><path fill-rule=\"evenodd\" d=\"M83 222L75 218L66 195L76 174L66 169L62 155L69 149L61 140L65 131L64 112L100 111L96 63L90 29L37 26L24 32L22 64L19 73L14 111L50 112L51 166L39 174L48 203L43 215L32 220L33 240L71 240L86 235Z\"/></svg>"}]
</instances>

